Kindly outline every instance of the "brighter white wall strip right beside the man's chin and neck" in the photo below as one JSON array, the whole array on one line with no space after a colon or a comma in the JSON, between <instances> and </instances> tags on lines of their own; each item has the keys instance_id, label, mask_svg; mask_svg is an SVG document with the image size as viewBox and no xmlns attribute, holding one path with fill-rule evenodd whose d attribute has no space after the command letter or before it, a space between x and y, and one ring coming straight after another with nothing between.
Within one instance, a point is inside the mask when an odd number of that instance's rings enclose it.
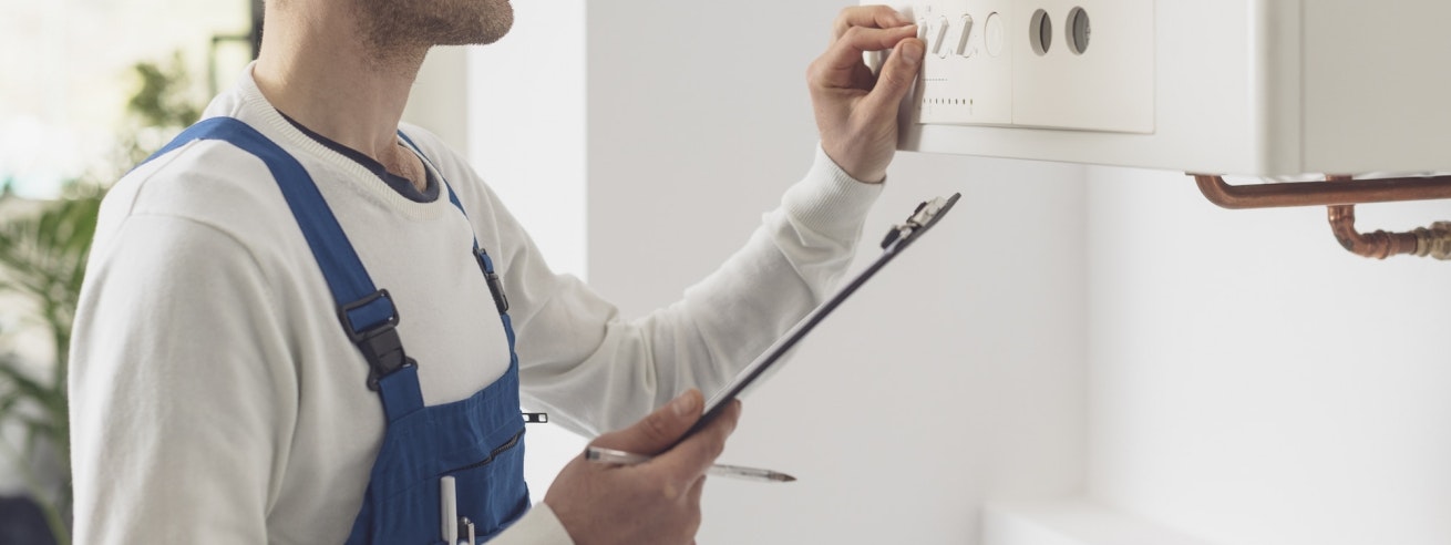
<instances>
[{"instance_id":1,"label":"brighter white wall strip right beside the man's chin and neck","mask_svg":"<svg viewBox=\"0 0 1451 545\"><path fill-rule=\"evenodd\" d=\"M556 271L585 277L585 0L519 1L470 48L469 158Z\"/></svg>"}]
</instances>

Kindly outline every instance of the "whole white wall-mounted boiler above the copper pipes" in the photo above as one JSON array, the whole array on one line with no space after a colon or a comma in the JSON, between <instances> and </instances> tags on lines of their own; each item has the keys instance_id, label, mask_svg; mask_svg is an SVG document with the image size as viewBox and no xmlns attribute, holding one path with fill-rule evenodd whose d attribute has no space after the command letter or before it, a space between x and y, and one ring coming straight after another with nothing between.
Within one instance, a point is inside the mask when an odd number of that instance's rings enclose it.
<instances>
[{"instance_id":1,"label":"whole white wall-mounted boiler above the copper pipes","mask_svg":"<svg viewBox=\"0 0 1451 545\"><path fill-rule=\"evenodd\" d=\"M1447 0L891 7L927 43L898 115L904 151L1258 177L1451 171Z\"/></svg>"}]
</instances>

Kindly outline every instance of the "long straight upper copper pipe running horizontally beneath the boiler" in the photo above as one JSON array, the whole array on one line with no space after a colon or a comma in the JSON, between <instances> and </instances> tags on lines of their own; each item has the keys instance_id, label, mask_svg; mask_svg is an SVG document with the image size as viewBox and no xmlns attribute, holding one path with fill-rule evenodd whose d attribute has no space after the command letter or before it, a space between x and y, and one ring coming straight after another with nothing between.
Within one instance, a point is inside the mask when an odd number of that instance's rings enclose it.
<instances>
[{"instance_id":1,"label":"long straight upper copper pipe running horizontally beneath the boiler","mask_svg":"<svg viewBox=\"0 0 1451 545\"><path fill-rule=\"evenodd\" d=\"M1220 175L1190 175L1210 203L1233 210L1451 199L1451 175L1261 186L1230 186Z\"/></svg>"}]
</instances>

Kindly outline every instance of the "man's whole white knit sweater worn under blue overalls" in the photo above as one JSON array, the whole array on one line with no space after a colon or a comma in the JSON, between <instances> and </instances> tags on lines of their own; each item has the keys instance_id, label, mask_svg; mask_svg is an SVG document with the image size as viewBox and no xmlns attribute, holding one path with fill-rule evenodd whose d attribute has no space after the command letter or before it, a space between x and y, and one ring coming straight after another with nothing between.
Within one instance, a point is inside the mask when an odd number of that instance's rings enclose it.
<instances>
[{"instance_id":1,"label":"man's whole white knit sweater worn under blue overalls","mask_svg":"<svg viewBox=\"0 0 1451 545\"><path fill-rule=\"evenodd\" d=\"M300 133L250 74L206 116L241 119L308 170L374 284L392 293L428 404L470 396L509 362L469 254L476 233L512 304L525 399L586 435L627 426L685 388L724 384L836 284L881 191L818 151L717 272L628 320L551 272L479 175L424 130L403 129L467 220L447 197L403 199ZM77 544L347 538L383 410L260 159L193 142L120 180L102 209L74 339ZM537 506L498 542L570 539Z\"/></svg>"}]
</instances>

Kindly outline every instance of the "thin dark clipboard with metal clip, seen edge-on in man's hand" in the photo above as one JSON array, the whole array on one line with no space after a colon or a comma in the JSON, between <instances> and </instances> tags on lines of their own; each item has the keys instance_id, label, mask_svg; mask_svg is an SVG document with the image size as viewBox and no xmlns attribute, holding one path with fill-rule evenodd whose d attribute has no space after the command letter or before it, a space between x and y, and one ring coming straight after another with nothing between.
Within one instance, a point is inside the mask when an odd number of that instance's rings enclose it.
<instances>
[{"instance_id":1,"label":"thin dark clipboard with metal clip, seen edge-on in man's hand","mask_svg":"<svg viewBox=\"0 0 1451 545\"><path fill-rule=\"evenodd\" d=\"M872 264L862 270L862 272L858 272L856 277L842 287L842 290L813 309L805 317L801 319L801 322L797 322L795 326L778 338L776 342L766 348L766 351L752 361L750 365L741 368L730 384L711 396L711 399L705 402L705 413L701 415L701 419L696 420L695 425L685 432L685 435L675 441L675 445L679 445L682 441L710 425L711 420L715 420L730 400L744 396L746 391L749 391L750 387L766 374L766 371L785 358L792 346L801 342L807 333L815 329L821 320L831 315L831 310L842 306L847 297L856 293L862 284L866 284L868 280L887 267L892 258L921 238L927 229L937 225L937 222L942 220L942 216L946 216L948 210L952 210L952 206L958 203L959 197L962 197L962 193L953 193L950 197L936 197L924 201L913 210L911 216L908 216L904 223L892 226L891 230L887 232L887 238L882 239L882 255L878 257L876 261L872 261ZM670 445L670 448L675 448L675 445Z\"/></svg>"}]
</instances>

